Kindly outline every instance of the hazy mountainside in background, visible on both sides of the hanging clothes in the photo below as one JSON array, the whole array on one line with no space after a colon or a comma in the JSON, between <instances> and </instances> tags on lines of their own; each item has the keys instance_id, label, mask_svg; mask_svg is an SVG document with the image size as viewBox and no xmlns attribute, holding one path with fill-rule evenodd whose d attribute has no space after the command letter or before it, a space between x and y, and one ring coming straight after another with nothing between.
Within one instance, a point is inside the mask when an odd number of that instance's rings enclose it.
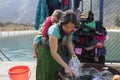
<instances>
[{"instance_id":1,"label":"hazy mountainside in background, visible on both sides of the hanging clothes","mask_svg":"<svg viewBox=\"0 0 120 80\"><path fill-rule=\"evenodd\" d=\"M29 23L35 20L39 0L0 0L0 22ZM90 10L90 1L84 1L84 10ZM95 20L99 19L99 1L92 0L92 11ZM115 26L116 18L120 19L120 0L104 0L104 25Z\"/></svg>"}]
</instances>

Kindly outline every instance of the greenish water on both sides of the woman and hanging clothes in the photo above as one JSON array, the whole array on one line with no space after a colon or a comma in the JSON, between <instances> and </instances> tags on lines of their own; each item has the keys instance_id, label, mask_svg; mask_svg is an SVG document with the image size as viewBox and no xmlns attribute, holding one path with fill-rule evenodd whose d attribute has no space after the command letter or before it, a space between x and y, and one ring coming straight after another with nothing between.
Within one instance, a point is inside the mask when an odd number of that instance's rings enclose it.
<instances>
[{"instance_id":1,"label":"greenish water on both sides of the woman and hanging clothes","mask_svg":"<svg viewBox=\"0 0 120 80\"><path fill-rule=\"evenodd\" d=\"M30 34L31 32L31 34ZM11 61L35 61L32 57L33 54L33 39L36 32L20 32L19 35L15 32L15 35L10 37L1 38L3 34L0 34L0 50L11 60ZM20 35L21 34L21 35ZM120 31L108 31L109 39L105 41L107 49L106 61L120 62ZM4 36L5 36L4 35ZM113 54L114 53L114 54ZM7 60L0 53L0 58Z\"/></svg>"}]
</instances>

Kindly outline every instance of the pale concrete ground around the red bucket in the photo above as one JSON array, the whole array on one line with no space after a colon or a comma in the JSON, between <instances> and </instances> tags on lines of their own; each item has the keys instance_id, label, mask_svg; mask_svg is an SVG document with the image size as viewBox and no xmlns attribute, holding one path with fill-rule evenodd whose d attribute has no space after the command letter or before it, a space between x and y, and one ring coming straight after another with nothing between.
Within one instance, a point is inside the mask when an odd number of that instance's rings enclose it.
<instances>
[{"instance_id":1,"label":"pale concrete ground around the red bucket","mask_svg":"<svg viewBox=\"0 0 120 80\"><path fill-rule=\"evenodd\" d=\"M25 65L30 68L31 76L29 80L36 80L36 61L27 62L27 61L3 61L0 62L0 80L10 80L8 70L13 66Z\"/></svg>"}]
</instances>

